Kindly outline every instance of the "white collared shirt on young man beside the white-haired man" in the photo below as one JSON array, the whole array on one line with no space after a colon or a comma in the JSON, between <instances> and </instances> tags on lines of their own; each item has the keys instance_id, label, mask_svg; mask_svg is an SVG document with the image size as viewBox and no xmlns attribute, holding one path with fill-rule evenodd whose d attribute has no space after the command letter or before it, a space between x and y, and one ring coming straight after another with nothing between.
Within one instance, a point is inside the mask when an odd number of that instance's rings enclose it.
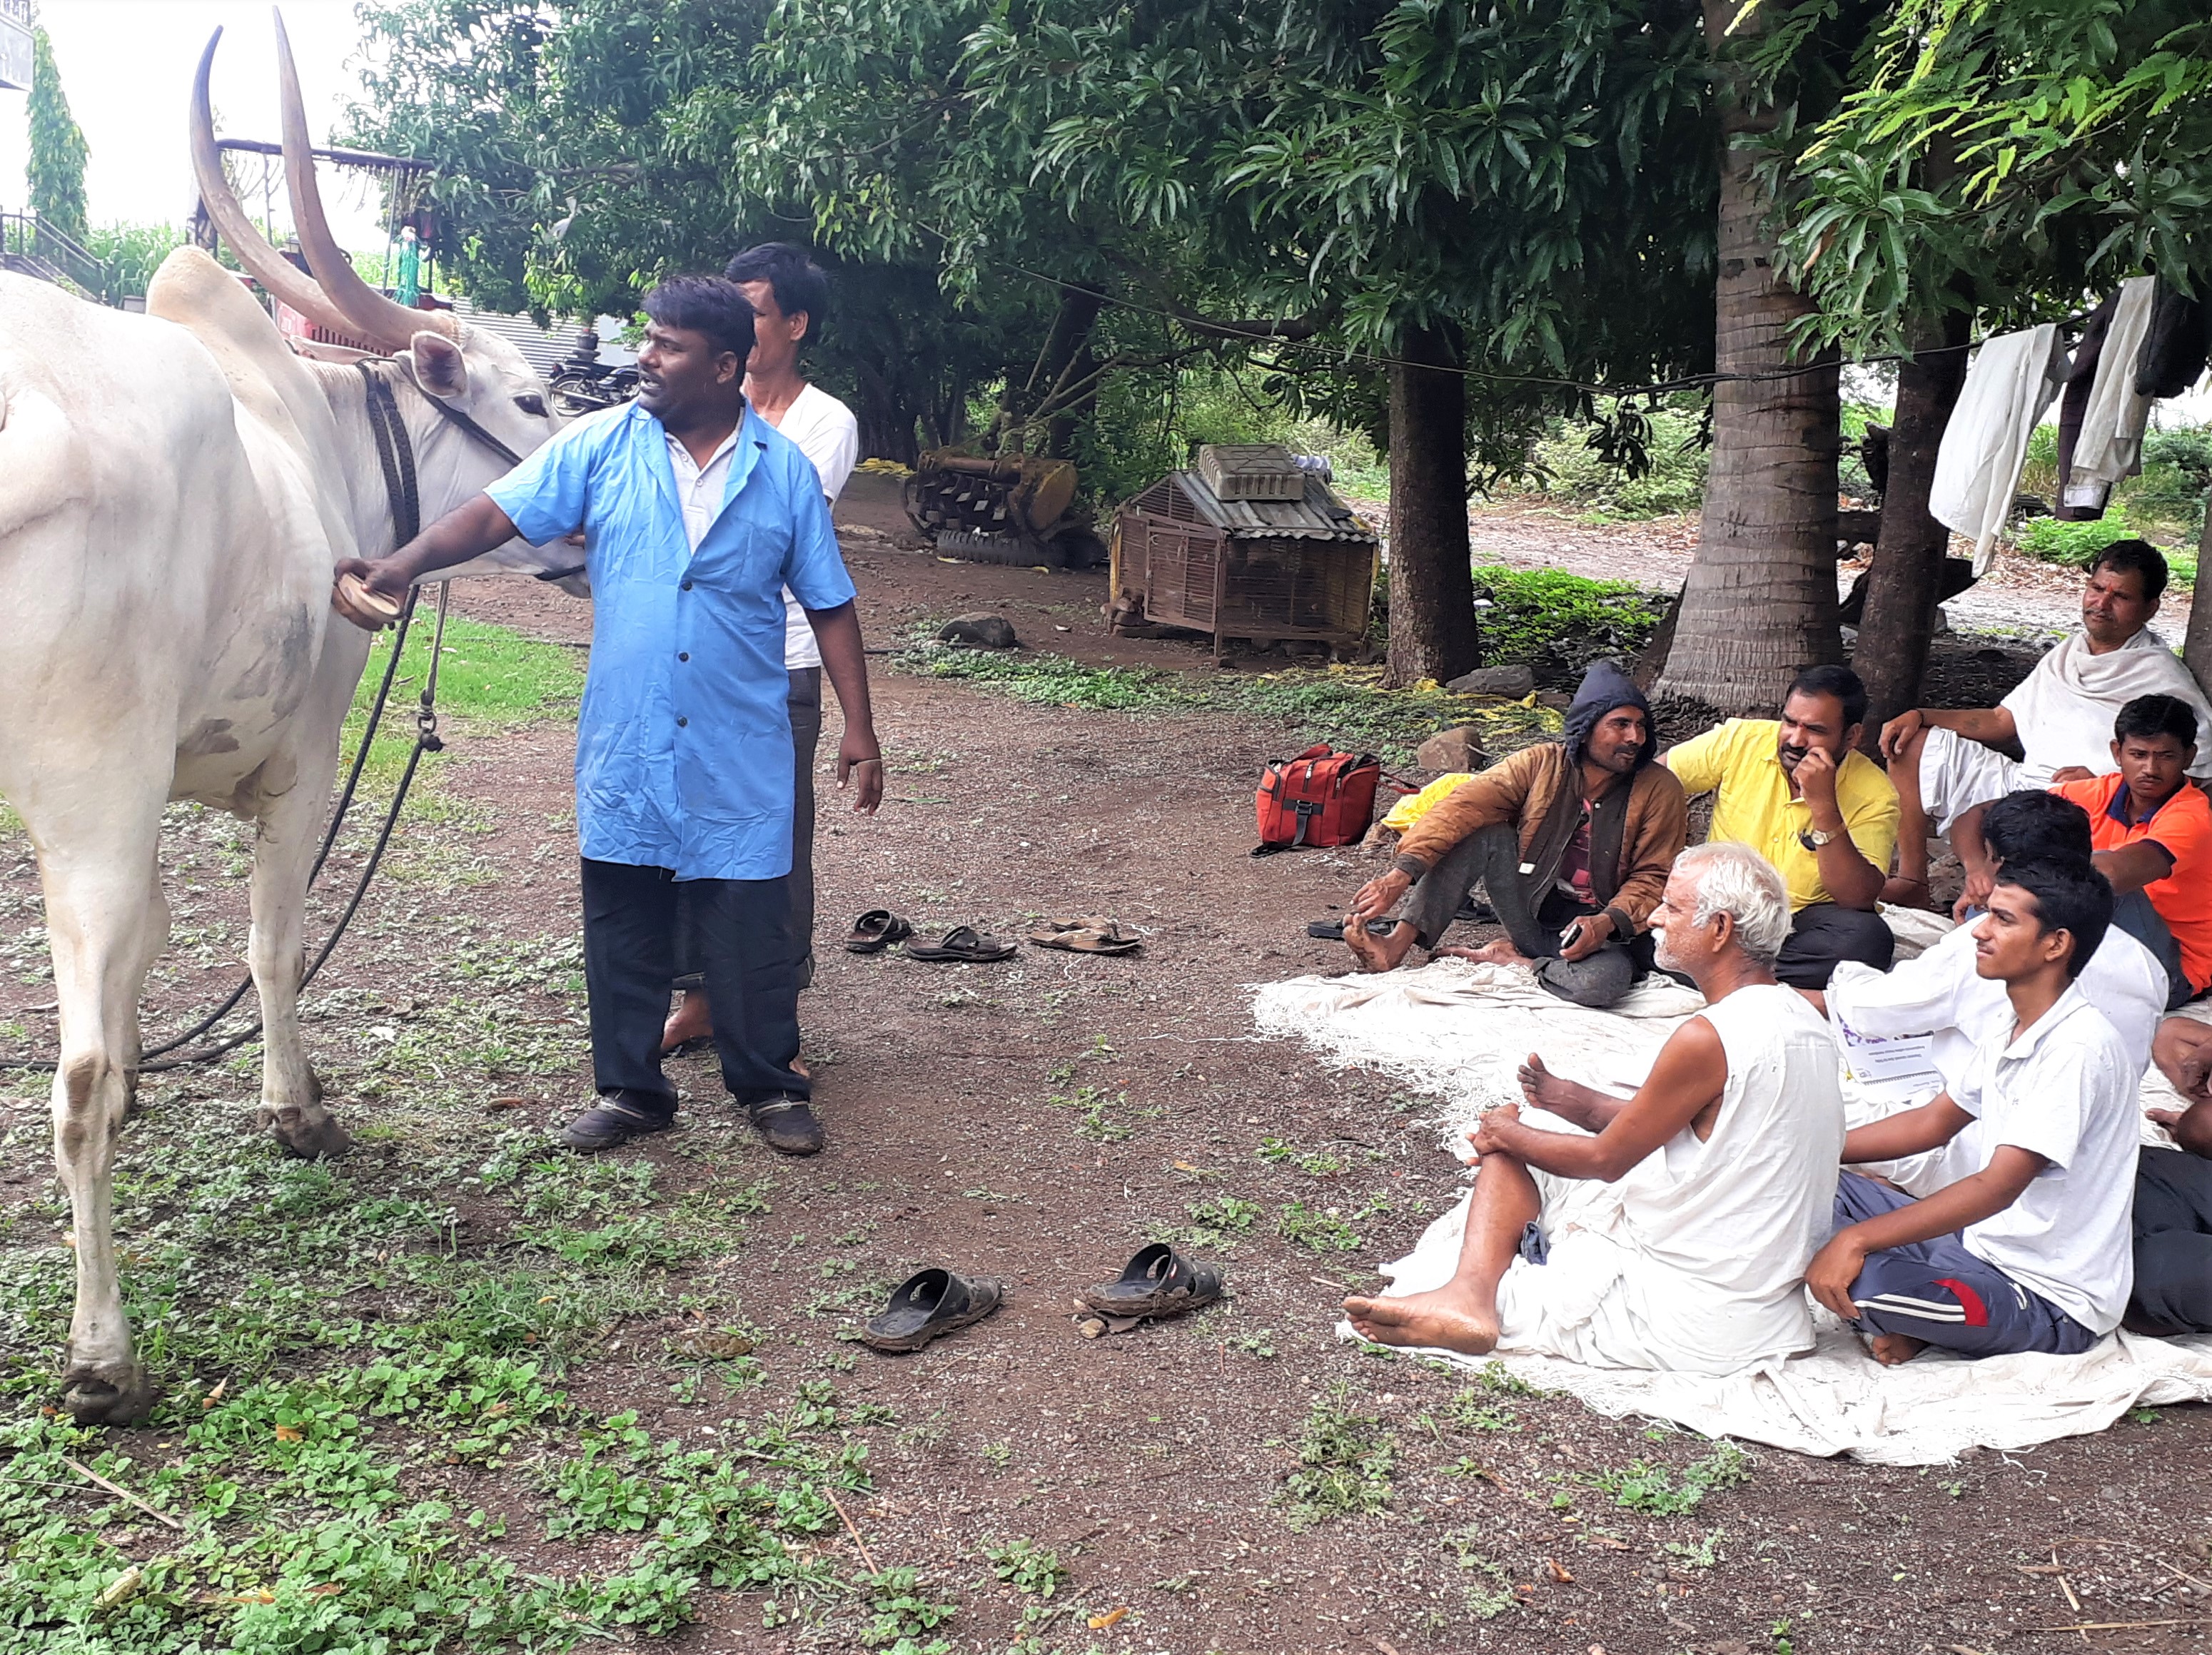
<instances>
[{"instance_id":1,"label":"white collared shirt on young man beside the white-haired man","mask_svg":"<svg viewBox=\"0 0 2212 1655\"><path fill-rule=\"evenodd\" d=\"M2004 1144L2048 1162L2017 1201L1966 1226L1966 1250L2095 1334L2119 1325L2135 1288L2139 1078L2075 982L2026 1033L1989 1040L1951 1089L1975 1117L1980 1166Z\"/></svg>"}]
</instances>

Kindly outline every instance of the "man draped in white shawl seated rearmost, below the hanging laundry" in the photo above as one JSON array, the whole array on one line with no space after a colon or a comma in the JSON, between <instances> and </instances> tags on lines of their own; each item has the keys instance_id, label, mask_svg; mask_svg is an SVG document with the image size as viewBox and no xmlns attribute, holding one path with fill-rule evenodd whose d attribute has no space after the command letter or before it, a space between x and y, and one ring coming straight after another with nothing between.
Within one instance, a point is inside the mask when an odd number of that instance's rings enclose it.
<instances>
[{"instance_id":1,"label":"man draped in white shawl seated rearmost, below the hanging laundry","mask_svg":"<svg viewBox=\"0 0 2212 1655\"><path fill-rule=\"evenodd\" d=\"M1885 903L1927 903L1929 825L1949 836L1969 810L2020 788L2108 777L2112 719L2139 695L2172 695L2212 728L2212 706L2166 639L2150 631L2166 595L2166 558L2148 540L2115 540L2088 569L2081 628L1993 708L1911 708L1882 726L1898 788L1898 872ZM2017 743L2024 759L1997 748ZM2190 768L2212 779L2212 741Z\"/></svg>"}]
</instances>

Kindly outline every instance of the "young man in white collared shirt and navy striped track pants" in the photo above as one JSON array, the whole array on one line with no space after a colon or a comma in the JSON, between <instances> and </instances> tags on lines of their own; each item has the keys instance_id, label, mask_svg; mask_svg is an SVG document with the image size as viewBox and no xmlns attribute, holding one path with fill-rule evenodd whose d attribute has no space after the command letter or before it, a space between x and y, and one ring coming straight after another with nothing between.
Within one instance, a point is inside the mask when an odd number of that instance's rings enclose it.
<instances>
[{"instance_id":1,"label":"young man in white collared shirt and navy striped track pants","mask_svg":"<svg viewBox=\"0 0 2212 1655\"><path fill-rule=\"evenodd\" d=\"M2112 887L2079 861L2006 863L1973 927L1975 969L2013 1022L1933 1102L1854 1128L1845 1166L1964 1135L1978 1170L1911 1199L1845 1173L1836 1235L1805 1272L1814 1299L1905 1363L2088 1350L2135 1283L2137 1082L2119 1033L2075 978L2112 923Z\"/></svg>"}]
</instances>

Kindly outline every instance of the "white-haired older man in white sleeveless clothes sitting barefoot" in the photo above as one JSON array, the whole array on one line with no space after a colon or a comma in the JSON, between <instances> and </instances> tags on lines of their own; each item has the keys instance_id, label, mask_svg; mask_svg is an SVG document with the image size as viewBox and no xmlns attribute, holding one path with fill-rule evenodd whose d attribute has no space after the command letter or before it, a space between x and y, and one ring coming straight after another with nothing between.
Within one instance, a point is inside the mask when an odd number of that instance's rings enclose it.
<instances>
[{"instance_id":1,"label":"white-haired older man in white sleeveless clothes sitting barefoot","mask_svg":"<svg viewBox=\"0 0 2212 1655\"><path fill-rule=\"evenodd\" d=\"M1568 1131L1515 1104L1473 1126L1458 1270L1433 1292L1347 1299L1363 1339L1692 1374L1812 1350L1803 1281L1829 1232L1843 1093L1827 1024L1774 980L1790 894L1754 850L1694 845L1652 929L1705 1009L1635 1097L1531 1055L1522 1091Z\"/></svg>"}]
</instances>

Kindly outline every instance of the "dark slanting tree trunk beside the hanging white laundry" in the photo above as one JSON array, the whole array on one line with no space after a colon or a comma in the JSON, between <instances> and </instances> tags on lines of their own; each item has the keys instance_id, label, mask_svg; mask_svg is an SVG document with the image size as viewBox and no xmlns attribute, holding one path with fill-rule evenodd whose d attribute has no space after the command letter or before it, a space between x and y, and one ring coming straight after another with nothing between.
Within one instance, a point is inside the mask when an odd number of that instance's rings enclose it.
<instances>
[{"instance_id":1,"label":"dark slanting tree trunk beside the hanging white laundry","mask_svg":"<svg viewBox=\"0 0 2212 1655\"><path fill-rule=\"evenodd\" d=\"M1882 531L1867 571L1867 613L1858 626L1854 666L1867 684L1867 735L1874 750L1882 724L1920 699L1920 677L1936 635L1936 593L1951 531L1929 516L1936 449L1966 383L1971 316L1947 312L1916 341L1918 354L1898 365L1898 416L1889 427L1889 487Z\"/></svg>"}]
</instances>

